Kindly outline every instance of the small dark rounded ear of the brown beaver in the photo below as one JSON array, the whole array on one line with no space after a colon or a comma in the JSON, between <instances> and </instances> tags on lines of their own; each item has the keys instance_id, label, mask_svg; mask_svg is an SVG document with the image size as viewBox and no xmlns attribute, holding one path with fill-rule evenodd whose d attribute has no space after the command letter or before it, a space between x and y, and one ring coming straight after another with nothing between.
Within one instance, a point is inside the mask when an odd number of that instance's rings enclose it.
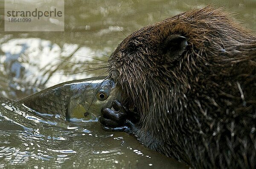
<instances>
[{"instance_id":1,"label":"small dark rounded ear of the brown beaver","mask_svg":"<svg viewBox=\"0 0 256 169\"><path fill-rule=\"evenodd\" d=\"M187 46L188 42L186 41L186 37L181 35L170 35L163 42L163 53L176 60L184 53Z\"/></svg>"}]
</instances>

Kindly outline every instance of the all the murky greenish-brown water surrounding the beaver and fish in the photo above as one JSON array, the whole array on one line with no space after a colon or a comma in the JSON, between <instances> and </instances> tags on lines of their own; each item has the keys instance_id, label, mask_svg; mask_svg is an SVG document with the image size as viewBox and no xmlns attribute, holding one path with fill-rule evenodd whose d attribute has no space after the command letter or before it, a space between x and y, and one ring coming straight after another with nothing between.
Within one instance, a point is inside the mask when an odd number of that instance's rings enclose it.
<instances>
[{"instance_id":1,"label":"all the murky greenish-brown water surrounding the beaver and fish","mask_svg":"<svg viewBox=\"0 0 256 169\"><path fill-rule=\"evenodd\" d=\"M103 75L108 56L126 35L209 3L238 13L234 17L255 32L256 1L230 2L69 0L64 32L5 32L0 0L0 96L17 100L61 82ZM4 98L0 168L184 168L131 135L102 130L96 121L42 116Z\"/></svg>"}]
</instances>

